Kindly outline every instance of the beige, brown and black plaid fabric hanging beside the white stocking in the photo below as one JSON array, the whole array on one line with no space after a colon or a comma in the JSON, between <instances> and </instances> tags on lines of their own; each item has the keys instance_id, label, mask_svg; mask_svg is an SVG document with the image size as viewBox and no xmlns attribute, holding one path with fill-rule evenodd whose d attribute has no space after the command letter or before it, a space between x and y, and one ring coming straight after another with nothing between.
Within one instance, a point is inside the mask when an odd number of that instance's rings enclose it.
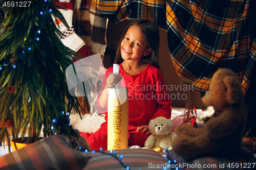
<instances>
[{"instance_id":1,"label":"beige, brown and black plaid fabric hanging beside the white stocking","mask_svg":"<svg viewBox=\"0 0 256 170\"><path fill-rule=\"evenodd\" d=\"M75 1L73 26L77 35L86 43L88 55L100 53L103 57L108 18L98 11L93 0Z\"/></svg>"}]
</instances>

